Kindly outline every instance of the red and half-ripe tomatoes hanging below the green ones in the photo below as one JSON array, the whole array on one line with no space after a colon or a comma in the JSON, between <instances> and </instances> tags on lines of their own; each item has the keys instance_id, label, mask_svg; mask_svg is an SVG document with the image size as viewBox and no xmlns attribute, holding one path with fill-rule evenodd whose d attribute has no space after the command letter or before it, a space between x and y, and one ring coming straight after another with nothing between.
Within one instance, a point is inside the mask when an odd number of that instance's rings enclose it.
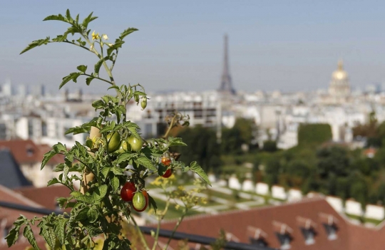
<instances>
[{"instance_id":1,"label":"red and half-ripe tomatoes hanging below the green ones","mask_svg":"<svg viewBox=\"0 0 385 250\"><path fill-rule=\"evenodd\" d=\"M170 166L171 159L168 153L163 155L162 164ZM162 175L164 178L168 178L173 175L173 170L166 170ZM138 189L134 182L126 182L120 190L120 197L125 202L132 202L132 207L137 212L143 212L148 206L148 193L145 189Z\"/></svg>"}]
</instances>

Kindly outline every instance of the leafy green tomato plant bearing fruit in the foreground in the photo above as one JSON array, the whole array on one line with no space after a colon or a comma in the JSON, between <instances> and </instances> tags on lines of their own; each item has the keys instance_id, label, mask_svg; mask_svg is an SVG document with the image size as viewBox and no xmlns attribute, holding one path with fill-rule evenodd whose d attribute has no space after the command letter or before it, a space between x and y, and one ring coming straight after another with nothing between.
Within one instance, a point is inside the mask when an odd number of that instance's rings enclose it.
<instances>
[{"instance_id":1,"label":"leafy green tomato plant bearing fruit in the foreground","mask_svg":"<svg viewBox=\"0 0 385 250\"><path fill-rule=\"evenodd\" d=\"M125 43L125 38L131 33L138 31L136 28L127 28L113 43L109 41L106 33L96 33L88 28L88 24L97 17L91 13L79 21L79 16L71 16L70 11L66 14L47 16L44 21L63 21L69 28L55 38L46 37L32 41L21 53L48 43L65 43L82 48L83 51L96 56L94 66L80 65L76 71L63 77L59 88L69 81L77 82L78 78L86 77L86 85L91 85L94 80L108 83L109 89L115 90L116 95L103 95L101 99L95 100L92 107L98 111L98 115L87 123L78 127L72 127L66 134L89 133L85 144L76 142L73 147L68 148L61 142L53 145L52 150L46 152L43 157L41 169L55 155L63 155L64 163L57 165L53 171L58 172L58 177L51 179L48 186L52 184L63 184L68 187L69 197L59 197L58 205L62 209L69 208L71 212L64 214L50 214L43 217L27 219L19 217L14 222L14 227L6 236L8 246L12 246L19 239L19 231L23 229L23 235L28 239L34 249L39 249L34 236L33 226L40 228L39 234L51 249L95 249L96 237L103 238L103 250L107 249L130 249L130 241L123 234L122 224L133 223L144 243L144 249L149 250L145 237L135 222L135 217L127 209L127 202L132 200L133 209L138 212L147 207L152 208L155 213L157 206L155 199L145 190L145 183L151 175L165 175L165 167L180 169L185 173L193 171L210 184L207 175L197 162L185 165L178 161L178 157L170 158L160 164L159 158L169 152L170 147L185 146L181 138L168 137L173 127L188 125L188 117L175 112L167 117L168 130L161 138L146 138L140 135L140 127L126 118L126 105L135 101L143 109L147 106L148 98L143 85L118 85L113 77L113 68L116 65L118 52ZM72 36L72 37L71 37ZM76 36L76 37L73 37ZM103 78L101 68L105 70L107 78ZM91 72L90 72L91 71ZM141 100L141 101L140 101ZM174 155L178 155L175 152ZM171 170L170 170L171 171ZM170 177L168 179L173 179ZM81 183L78 190L75 182ZM138 192L138 190L140 190ZM183 219L188 209L197 204L197 199L190 194L181 193L179 197L185 204ZM175 194L168 194L170 197ZM143 199L144 198L144 199ZM168 205L167 205L168 206ZM165 209L167 211L167 209ZM125 217L125 220L123 220ZM158 216L158 222L163 219L164 214ZM155 231L155 242L153 249L157 246L158 231ZM175 227L175 230L178 226ZM168 243L164 249L168 249Z\"/></svg>"}]
</instances>

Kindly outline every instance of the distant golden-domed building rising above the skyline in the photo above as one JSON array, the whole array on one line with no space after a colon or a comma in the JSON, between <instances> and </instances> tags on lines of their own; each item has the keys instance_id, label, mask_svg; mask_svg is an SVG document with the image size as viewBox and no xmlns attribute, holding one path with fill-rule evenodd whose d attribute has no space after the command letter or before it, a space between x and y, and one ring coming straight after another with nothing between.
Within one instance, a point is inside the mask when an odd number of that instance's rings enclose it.
<instances>
[{"instance_id":1,"label":"distant golden-domed building rising above the skyline","mask_svg":"<svg viewBox=\"0 0 385 250\"><path fill-rule=\"evenodd\" d=\"M349 78L347 72L344 71L344 63L342 60L338 62L337 71L332 73L329 95L334 98L347 98L350 95Z\"/></svg>"}]
</instances>

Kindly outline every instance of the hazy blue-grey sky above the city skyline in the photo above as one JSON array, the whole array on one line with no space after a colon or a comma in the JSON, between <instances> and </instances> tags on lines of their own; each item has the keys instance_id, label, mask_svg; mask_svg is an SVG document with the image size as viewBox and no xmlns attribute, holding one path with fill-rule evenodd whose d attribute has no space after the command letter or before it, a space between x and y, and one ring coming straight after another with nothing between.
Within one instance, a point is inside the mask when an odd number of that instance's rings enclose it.
<instances>
[{"instance_id":1,"label":"hazy blue-grey sky above the city skyline","mask_svg":"<svg viewBox=\"0 0 385 250\"><path fill-rule=\"evenodd\" d=\"M56 90L76 66L93 68L93 54L48 44L19 56L31 41L56 36L66 24L51 14L94 12L90 28L112 40L124 28L115 75L118 84L146 90L216 89L222 73L222 39L229 35L230 72L237 90L327 88L339 58L351 85L385 82L385 1L1 1L0 83L44 83ZM78 83L68 88L84 87ZM91 91L102 91L104 83ZM87 89L87 88L86 88Z\"/></svg>"}]
</instances>

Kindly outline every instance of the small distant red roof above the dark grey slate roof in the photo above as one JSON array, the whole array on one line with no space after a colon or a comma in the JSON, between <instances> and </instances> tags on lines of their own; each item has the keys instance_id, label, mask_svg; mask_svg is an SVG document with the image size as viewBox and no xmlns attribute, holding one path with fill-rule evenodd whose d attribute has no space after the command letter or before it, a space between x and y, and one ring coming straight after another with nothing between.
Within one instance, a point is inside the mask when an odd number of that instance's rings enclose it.
<instances>
[{"instance_id":1,"label":"small distant red roof above the dark grey slate roof","mask_svg":"<svg viewBox=\"0 0 385 250\"><path fill-rule=\"evenodd\" d=\"M41 162L46 152L51 150L48 145L36 145L32 140L0 140L0 149L8 148L19 164L34 164ZM57 165L63 161L63 156L55 155L48 162Z\"/></svg>"}]
</instances>

